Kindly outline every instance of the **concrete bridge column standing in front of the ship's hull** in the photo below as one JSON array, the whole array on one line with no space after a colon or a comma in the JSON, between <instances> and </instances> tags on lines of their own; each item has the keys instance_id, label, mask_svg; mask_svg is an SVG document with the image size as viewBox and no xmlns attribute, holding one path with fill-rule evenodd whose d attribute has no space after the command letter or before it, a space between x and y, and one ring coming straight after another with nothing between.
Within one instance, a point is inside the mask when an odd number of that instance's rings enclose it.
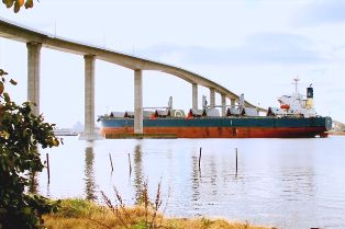
<instances>
[{"instance_id":1,"label":"concrete bridge column standing in front of the ship's hull","mask_svg":"<svg viewBox=\"0 0 345 229\"><path fill-rule=\"evenodd\" d=\"M143 134L143 71L134 71L134 134Z\"/></svg>"}]
</instances>

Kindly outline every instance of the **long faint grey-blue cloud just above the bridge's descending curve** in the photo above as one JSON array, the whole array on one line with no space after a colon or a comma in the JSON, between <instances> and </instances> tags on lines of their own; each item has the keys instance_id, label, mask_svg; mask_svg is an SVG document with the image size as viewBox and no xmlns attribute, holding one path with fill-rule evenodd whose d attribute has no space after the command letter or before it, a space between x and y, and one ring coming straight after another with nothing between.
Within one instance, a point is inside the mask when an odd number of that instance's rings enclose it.
<instances>
[{"instance_id":1,"label":"long faint grey-blue cloud just above the bridge's descending curve","mask_svg":"<svg viewBox=\"0 0 345 229\"><path fill-rule=\"evenodd\" d=\"M253 34L242 46L233 48L157 45L138 53L160 61L178 57L178 64L197 65L294 65L323 60L311 44L308 38L296 34L266 32Z\"/></svg>"}]
</instances>

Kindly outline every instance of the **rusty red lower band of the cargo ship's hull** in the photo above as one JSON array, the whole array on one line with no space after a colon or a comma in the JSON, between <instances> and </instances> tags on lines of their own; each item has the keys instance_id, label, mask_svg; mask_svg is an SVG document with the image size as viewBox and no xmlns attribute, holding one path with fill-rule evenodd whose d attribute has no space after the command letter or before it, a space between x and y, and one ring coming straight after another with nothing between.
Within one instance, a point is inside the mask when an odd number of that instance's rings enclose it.
<instances>
[{"instance_id":1,"label":"rusty red lower band of the cargo ship's hull","mask_svg":"<svg viewBox=\"0 0 345 229\"><path fill-rule=\"evenodd\" d=\"M312 138L327 137L324 127L144 127L144 135L176 138ZM133 136L133 127L102 127L105 138Z\"/></svg>"}]
</instances>

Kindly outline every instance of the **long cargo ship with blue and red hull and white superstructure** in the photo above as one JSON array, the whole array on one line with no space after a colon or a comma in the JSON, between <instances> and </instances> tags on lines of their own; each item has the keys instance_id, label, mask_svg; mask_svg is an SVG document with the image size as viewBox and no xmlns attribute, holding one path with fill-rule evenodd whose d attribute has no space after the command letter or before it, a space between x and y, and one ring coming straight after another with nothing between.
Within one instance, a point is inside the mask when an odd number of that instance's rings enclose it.
<instances>
[{"instance_id":1,"label":"long cargo ship with blue and red hull and white superstructure","mask_svg":"<svg viewBox=\"0 0 345 229\"><path fill-rule=\"evenodd\" d=\"M319 116L313 105L313 88L307 88L307 96L298 91L278 99L279 107L268 107L264 116L255 107L246 107L244 95L226 114L208 106L203 96L202 110L182 110L169 105L164 110L143 111L143 136L162 138L313 138L327 137L332 118ZM105 138L126 138L134 135L134 112L111 112L99 116L101 134Z\"/></svg>"}]
</instances>

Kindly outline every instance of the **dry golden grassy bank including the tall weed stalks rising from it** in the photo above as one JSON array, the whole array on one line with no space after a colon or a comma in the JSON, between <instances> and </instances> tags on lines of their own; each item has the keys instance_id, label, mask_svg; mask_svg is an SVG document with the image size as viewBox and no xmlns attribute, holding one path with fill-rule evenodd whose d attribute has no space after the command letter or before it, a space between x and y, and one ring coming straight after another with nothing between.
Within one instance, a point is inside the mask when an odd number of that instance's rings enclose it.
<instances>
[{"instance_id":1,"label":"dry golden grassy bank including the tall weed stalks rising from it","mask_svg":"<svg viewBox=\"0 0 345 229\"><path fill-rule=\"evenodd\" d=\"M164 213L169 196L167 199L162 196L162 185L158 183L154 197L149 197L146 181L141 185L135 206L131 207L125 205L116 188L113 202L102 193L105 206L85 199L64 199L57 213L44 216L45 226L48 229L268 229L225 219L168 218Z\"/></svg>"}]
</instances>

